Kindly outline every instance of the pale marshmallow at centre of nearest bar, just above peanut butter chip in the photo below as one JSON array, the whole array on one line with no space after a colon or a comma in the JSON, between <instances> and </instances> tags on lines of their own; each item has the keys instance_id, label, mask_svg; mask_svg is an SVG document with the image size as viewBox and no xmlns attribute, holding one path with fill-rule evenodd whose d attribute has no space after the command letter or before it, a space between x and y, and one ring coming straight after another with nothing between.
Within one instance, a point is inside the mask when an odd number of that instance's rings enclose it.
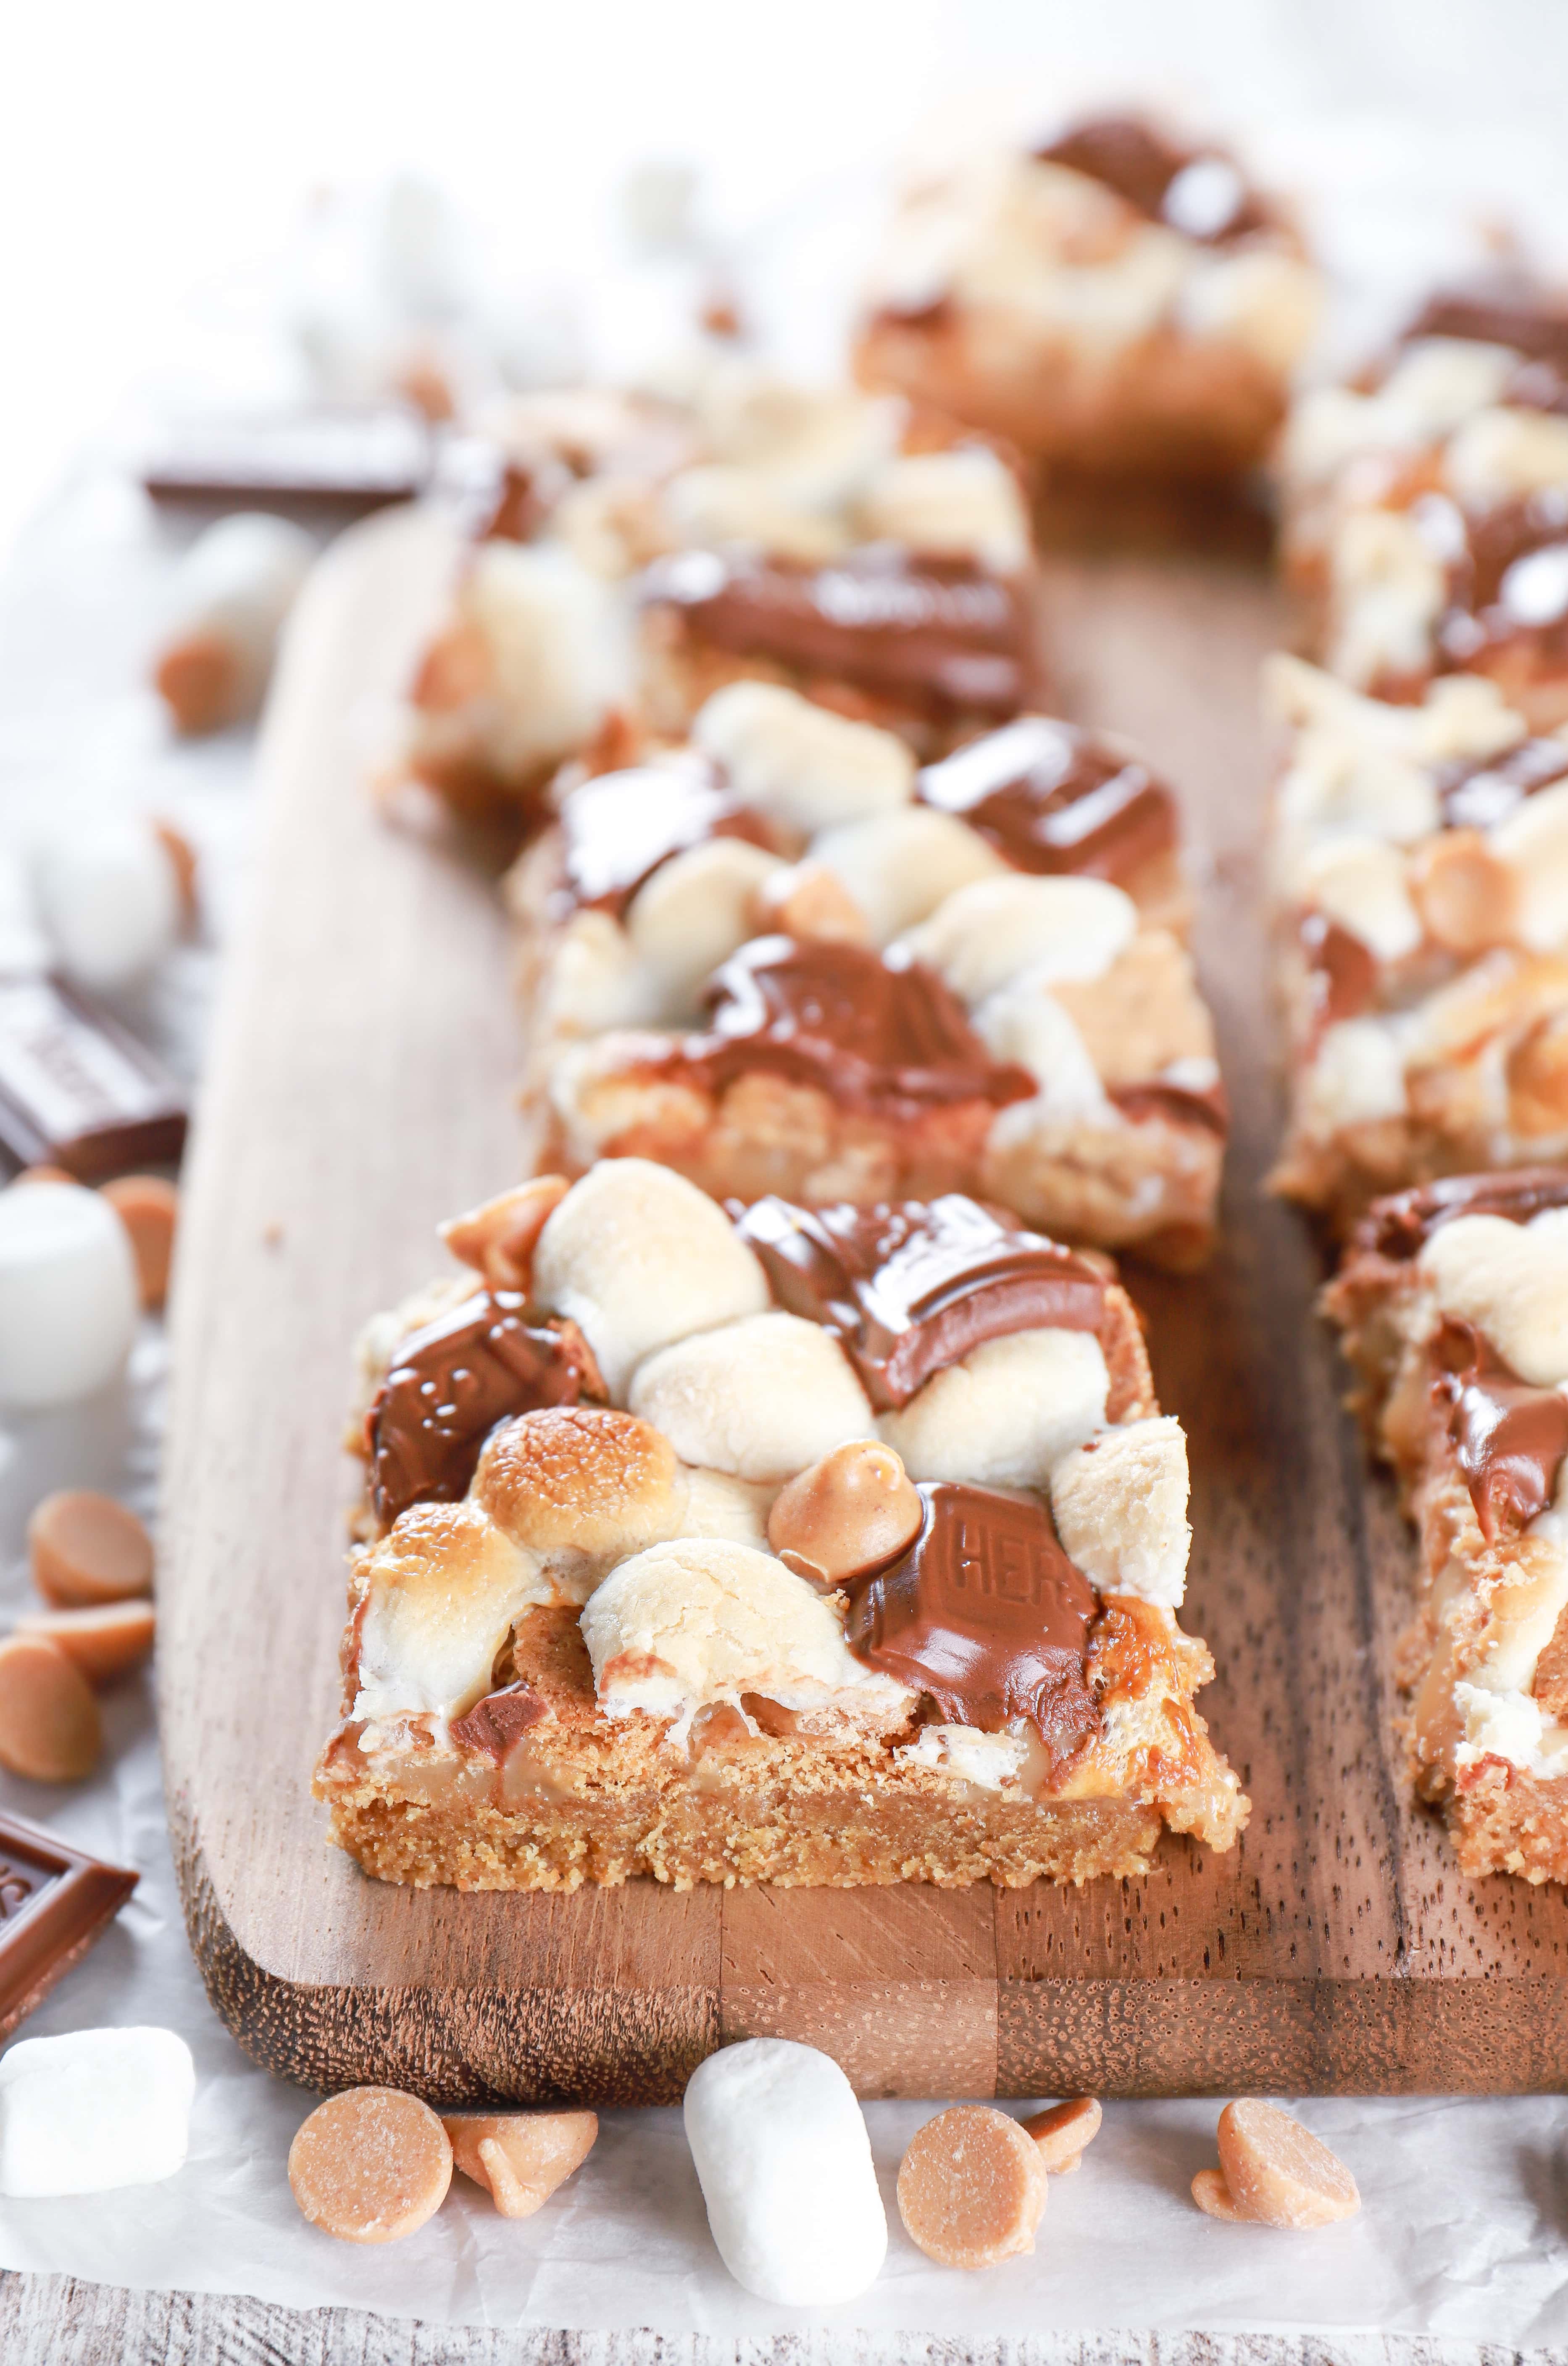
<instances>
[{"instance_id":1,"label":"pale marshmallow at centre of nearest bar, just above peanut butter chip","mask_svg":"<svg viewBox=\"0 0 1568 2366\"><path fill-rule=\"evenodd\" d=\"M738 1479L790 1479L835 1446L875 1434L840 1344L802 1315L762 1313L648 1356L629 1405L683 1462Z\"/></svg>"}]
</instances>

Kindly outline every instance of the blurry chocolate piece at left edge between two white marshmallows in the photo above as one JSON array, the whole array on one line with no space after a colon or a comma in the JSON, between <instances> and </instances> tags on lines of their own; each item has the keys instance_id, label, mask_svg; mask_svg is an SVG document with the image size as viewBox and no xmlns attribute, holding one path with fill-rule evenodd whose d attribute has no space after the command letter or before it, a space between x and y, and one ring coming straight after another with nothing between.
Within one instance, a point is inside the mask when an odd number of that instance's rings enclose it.
<instances>
[{"instance_id":1,"label":"blurry chocolate piece at left edge between two white marshmallows","mask_svg":"<svg viewBox=\"0 0 1568 2366\"><path fill-rule=\"evenodd\" d=\"M106 1010L54 977L0 980L0 1150L80 1183L184 1148L184 1095Z\"/></svg>"}]
</instances>

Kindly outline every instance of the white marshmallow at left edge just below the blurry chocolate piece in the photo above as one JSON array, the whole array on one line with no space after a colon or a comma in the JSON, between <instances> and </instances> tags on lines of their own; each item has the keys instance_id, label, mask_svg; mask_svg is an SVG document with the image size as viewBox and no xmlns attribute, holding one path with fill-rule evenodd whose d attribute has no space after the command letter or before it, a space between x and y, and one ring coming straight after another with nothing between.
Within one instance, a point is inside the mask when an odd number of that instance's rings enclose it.
<instances>
[{"instance_id":1,"label":"white marshmallow at left edge just below the blurry chocolate piece","mask_svg":"<svg viewBox=\"0 0 1568 2366\"><path fill-rule=\"evenodd\" d=\"M69 1405L123 1368L140 1313L125 1226L78 1183L0 1190L0 1405Z\"/></svg>"}]
</instances>

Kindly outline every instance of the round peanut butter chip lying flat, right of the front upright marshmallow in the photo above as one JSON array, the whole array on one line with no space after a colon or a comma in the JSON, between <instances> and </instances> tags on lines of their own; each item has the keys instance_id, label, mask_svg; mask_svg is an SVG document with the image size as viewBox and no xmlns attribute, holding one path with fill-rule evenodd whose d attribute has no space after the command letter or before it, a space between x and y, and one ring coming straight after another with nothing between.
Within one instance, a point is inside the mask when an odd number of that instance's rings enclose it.
<instances>
[{"instance_id":1,"label":"round peanut butter chip lying flat, right of the front upright marshmallow","mask_svg":"<svg viewBox=\"0 0 1568 2366\"><path fill-rule=\"evenodd\" d=\"M1038 2146L989 2103L939 2110L899 2165L899 2217L939 2267L996 2267L1034 2250L1043 2210Z\"/></svg>"}]
</instances>

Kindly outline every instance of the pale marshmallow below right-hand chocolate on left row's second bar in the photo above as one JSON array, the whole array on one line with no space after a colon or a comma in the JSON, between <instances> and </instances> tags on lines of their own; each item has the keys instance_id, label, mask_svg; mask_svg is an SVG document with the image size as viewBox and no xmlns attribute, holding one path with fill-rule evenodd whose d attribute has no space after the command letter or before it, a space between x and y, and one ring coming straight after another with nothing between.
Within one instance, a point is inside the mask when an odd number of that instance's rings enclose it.
<instances>
[{"instance_id":1,"label":"pale marshmallow below right-hand chocolate on left row's second bar","mask_svg":"<svg viewBox=\"0 0 1568 2366\"><path fill-rule=\"evenodd\" d=\"M1102 977L1135 935L1138 906L1109 880L1010 871L960 887L901 944L974 1006L1015 977Z\"/></svg>"}]
</instances>

